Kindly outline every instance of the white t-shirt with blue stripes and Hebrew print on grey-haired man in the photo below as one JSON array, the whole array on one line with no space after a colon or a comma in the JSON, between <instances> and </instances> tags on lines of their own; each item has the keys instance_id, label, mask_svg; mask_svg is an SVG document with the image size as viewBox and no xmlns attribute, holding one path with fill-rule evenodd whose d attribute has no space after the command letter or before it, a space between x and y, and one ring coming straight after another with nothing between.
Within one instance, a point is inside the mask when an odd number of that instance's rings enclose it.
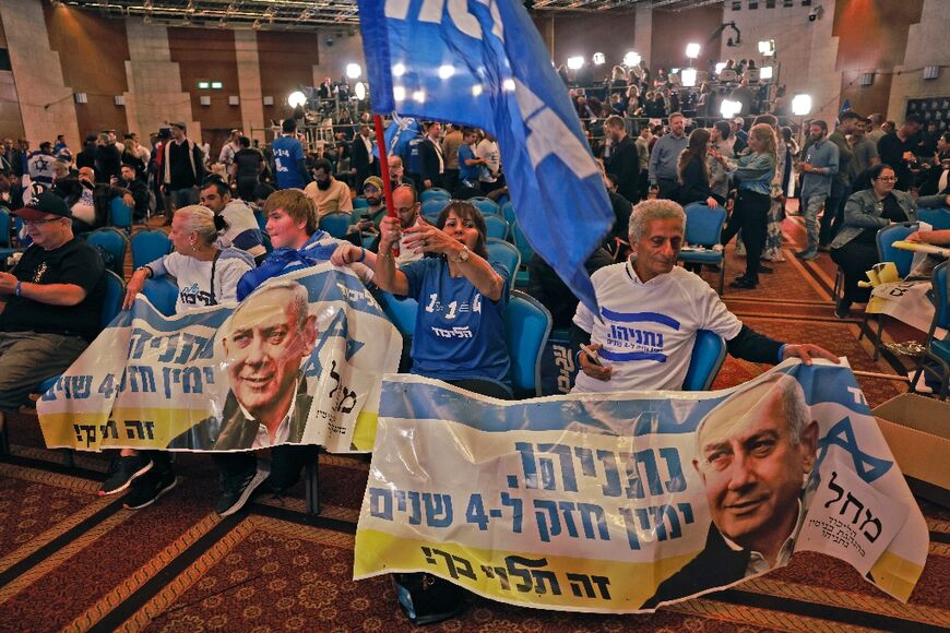
<instances>
[{"instance_id":1,"label":"white t-shirt with blue stripes and Hebrew print on grey-haired man","mask_svg":"<svg viewBox=\"0 0 950 633\"><path fill-rule=\"evenodd\" d=\"M643 283L627 261L598 270L591 282L601 318L580 303L574 324L604 346L598 354L614 371L607 382L581 371L572 393L680 390L697 330L729 341L743 327L709 284L685 268Z\"/></svg>"}]
</instances>

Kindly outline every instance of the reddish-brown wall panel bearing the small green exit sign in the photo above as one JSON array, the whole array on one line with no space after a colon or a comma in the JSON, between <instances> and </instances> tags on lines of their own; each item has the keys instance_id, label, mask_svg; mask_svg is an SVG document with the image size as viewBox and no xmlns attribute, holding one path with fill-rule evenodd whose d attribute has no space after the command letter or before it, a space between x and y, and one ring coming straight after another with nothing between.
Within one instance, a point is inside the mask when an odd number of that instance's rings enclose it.
<instances>
[{"instance_id":1,"label":"reddish-brown wall panel bearing the small green exit sign","mask_svg":"<svg viewBox=\"0 0 950 633\"><path fill-rule=\"evenodd\" d=\"M201 141L210 143L212 156L217 157L228 131L241 127L240 106L227 103L228 95L239 94L234 32L168 27L168 49L178 63L181 89L191 95L192 116L201 122ZM223 87L200 89L199 81L219 81ZM210 106L201 105L202 96L211 97Z\"/></svg>"}]
</instances>

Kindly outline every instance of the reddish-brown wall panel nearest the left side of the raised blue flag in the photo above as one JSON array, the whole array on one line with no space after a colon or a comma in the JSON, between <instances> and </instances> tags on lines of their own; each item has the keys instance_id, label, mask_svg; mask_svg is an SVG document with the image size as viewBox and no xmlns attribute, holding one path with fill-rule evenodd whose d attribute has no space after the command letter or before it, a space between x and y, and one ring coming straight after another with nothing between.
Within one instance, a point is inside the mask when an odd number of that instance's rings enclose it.
<instances>
[{"instance_id":1,"label":"reddish-brown wall panel nearest the left side of the raised blue flag","mask_svg":"<svg viewBox=\"0 0 950 633\"><path fill-rule=\"evenodd\" d=\"M264 106L265 122L292 114L287 96L298 84L313 85L313 67L320 63L318 39L317 33L258 32L261 95L274 97L273 106Z\"/></svg>"}]
</instances>

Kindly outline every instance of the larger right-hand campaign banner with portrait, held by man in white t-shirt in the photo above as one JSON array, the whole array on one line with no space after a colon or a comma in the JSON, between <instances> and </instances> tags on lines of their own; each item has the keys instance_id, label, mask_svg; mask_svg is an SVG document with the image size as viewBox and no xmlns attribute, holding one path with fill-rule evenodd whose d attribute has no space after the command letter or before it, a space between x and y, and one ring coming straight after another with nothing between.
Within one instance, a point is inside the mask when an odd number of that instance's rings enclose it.
<instances>
[{"instance_id":1,"label":"larger right-hand campaign banner with portrait, held by man in white t-shirt","mask_svg":"<svg viewBox=\"0 0 950 633\"><path fill-rule=\"evenodd\" d=\"M846 366L527 402L389 375L354 577L426 572L513 605L620 613L811 550L906 601L927 548Z\"/></svg>"}]
</instances>

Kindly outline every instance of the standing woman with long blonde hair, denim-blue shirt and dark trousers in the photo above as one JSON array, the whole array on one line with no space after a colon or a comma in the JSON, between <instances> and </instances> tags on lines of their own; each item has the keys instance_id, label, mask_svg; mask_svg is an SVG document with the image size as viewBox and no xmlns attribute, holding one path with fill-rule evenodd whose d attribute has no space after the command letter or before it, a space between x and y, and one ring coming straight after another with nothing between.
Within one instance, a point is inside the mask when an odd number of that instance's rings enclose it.
<instances>
[{"instance_id":1,"label":"standing woman with long blonde hair, denim-blue shirt and dark trousers","mask_svg":"<svg viewBox=\"0 0 950 633\"><path fill-rule=\"evenodd\" d=\"M722 243L727 244L739 230L746 242L746 272L729 284L733 288L755 288L759 284L759 258L765 241L769 208L772 205L771 183L777 164L775 133L771 126L752 126L749 148L751 153L735 163L722 155L717 157L732 172L738 190L735 208L723 230Z\"/></svg>"}]
</instances>

